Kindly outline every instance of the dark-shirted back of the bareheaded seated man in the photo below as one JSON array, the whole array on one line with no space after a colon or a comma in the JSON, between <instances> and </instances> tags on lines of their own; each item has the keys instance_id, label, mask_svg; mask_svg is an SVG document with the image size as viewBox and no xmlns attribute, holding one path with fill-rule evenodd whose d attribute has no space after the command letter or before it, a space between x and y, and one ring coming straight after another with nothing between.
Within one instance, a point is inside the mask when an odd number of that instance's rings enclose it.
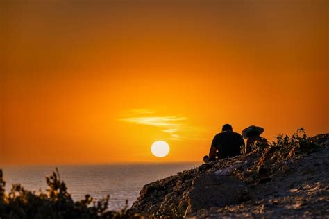
<instances>
[{"instance_id":1,"label":"dark-shirted back of the bareheaded seated man","mask_svg":"<svg viewBox=\"0 0 329 219\"><path fill-rule=\"evenodd\" d=\"M241 155L244 139L239 133L226 131L217 134L212 141L212 147L219 151L219 159Z\"/></svg>"}]
</instances>

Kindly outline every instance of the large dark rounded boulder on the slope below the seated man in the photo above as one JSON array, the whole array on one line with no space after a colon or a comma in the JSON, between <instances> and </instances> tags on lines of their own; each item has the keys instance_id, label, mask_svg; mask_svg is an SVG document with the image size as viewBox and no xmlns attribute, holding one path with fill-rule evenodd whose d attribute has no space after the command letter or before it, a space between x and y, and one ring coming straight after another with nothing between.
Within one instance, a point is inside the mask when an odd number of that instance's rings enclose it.
<instances>
[{"instance_id":1,"label":"large dark rounded boulder on the slope below the seated man","mask_svg":"<svg viewBox=\"0 0 329 219\"><path fill-rule=\"evenodd\" d=\"M196 177L192 183L186 213L237 204L242 202L247 193L248 189L244 182L235 176L204 173Z\"/></svg>"}]
</instances>

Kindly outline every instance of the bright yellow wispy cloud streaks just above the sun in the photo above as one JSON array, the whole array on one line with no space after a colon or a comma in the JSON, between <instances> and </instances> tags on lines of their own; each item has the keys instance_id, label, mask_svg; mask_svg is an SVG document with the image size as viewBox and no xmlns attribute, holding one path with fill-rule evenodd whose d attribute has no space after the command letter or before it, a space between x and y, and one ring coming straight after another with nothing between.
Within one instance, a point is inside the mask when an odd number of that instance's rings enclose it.
<instances>
[{"instance_id":1,"label":"bright yellow wispy cloud streaks just above the sun","mask_svg":"<svg viewBox=\"0 0 329 219\"><path fill-rule=\"evenodd\" d=\"M196 125L188 124L185 116L155 116L155 112L151 109L133 109L128 114L133 116L124 116L120 120L159 128L161 132L169 134L171 140L196 140L198 139L196 136L199 136L198 132L203 130Z\"/></svg>"}]
</instances>

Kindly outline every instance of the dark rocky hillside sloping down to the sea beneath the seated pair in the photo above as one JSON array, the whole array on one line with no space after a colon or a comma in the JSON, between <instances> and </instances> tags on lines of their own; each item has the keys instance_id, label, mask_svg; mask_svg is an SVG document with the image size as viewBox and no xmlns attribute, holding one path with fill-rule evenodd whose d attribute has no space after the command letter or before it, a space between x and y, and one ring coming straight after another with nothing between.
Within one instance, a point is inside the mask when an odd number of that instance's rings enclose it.
<instances>
[{"instance_id":1,"label":"dark rocky hillside sloping down to the sea beneath the seated pair","mask_svg":"<svg viewBox=\"0 0 329 219\"><path fill-rule=\"evenodd\" d=\"M329 134L255 145L144 186L130 211L155 217L329 217Z\"/></svg>"}]
</instances>

